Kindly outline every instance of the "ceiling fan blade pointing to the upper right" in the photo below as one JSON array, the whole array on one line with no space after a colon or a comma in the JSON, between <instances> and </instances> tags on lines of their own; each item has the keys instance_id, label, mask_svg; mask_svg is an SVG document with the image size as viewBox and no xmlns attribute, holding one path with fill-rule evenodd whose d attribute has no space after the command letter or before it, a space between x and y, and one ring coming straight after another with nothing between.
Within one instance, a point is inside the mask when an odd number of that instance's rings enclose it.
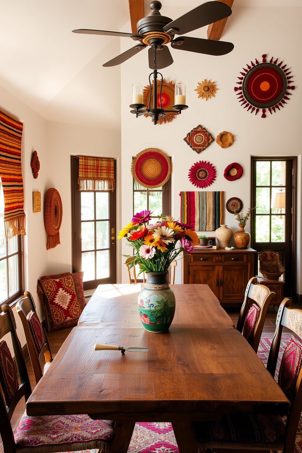
<instances>
[{"instance_id":1,"label":"ceiling fan blade pointing to the upper right","mask_svg":"<svg viewBox=\"0 0 302 453\"><path fill-rule=\"evenodd\" d=\"M232 14L232 10L225 3L208 1L178 19L173 20L170 24L165 25L163 30L168 32L170 29L174 29L174 34L188 33L189 31L217 22L217 20L224 19L230 16L230 14Z\"/></svg>"}]
</instances>

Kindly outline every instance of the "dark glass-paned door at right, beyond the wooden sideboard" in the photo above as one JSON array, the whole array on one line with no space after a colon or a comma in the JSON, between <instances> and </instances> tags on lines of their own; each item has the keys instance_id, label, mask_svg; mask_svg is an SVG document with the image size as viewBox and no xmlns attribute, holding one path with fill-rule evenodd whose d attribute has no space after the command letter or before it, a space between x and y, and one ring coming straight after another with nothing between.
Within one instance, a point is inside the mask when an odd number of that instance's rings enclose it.
<instances>
[{"instance_id":1,"label":"dark glass-paned door at right, beyond the wooden sideboard","mask_svg":"<svg viewBox=\"0 0 302 453\"><path fill-rule=\"evenodd\" d=\"M252 157L251 165L251 247L278 252L286 297L295 296L295 164L295 158Z\"/></svg>"}]
</instances>

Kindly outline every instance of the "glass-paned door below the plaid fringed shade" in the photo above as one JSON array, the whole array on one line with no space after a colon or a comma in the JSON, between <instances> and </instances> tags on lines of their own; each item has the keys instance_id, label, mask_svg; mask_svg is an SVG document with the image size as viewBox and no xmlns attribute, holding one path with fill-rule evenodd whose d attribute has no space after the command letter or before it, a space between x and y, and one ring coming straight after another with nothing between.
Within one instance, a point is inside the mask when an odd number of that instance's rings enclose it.
<instances>
[{"instance_id":1,"label":"glass-paned door below the plaid fringed shade","mask_svg":"<svg viewBox=\"0 0 302 453\"><path fill-rule=\"evenodd\" d=\"M72 270L84 271L84 290L116 283L115 191L79 192L76 156L71 169Z\"/></svg>"}]
</instances>

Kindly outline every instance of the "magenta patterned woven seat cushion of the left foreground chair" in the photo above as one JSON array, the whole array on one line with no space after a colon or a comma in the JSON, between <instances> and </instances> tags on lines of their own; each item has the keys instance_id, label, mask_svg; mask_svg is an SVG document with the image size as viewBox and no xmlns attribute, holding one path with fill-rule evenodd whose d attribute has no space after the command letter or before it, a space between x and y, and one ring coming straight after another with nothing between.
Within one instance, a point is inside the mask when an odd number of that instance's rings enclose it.
<instances>
[{"instance_id":1,"label":"magenta patterned woven seat cushion of the left foreground chair","mask_svg":"<svg viewBox=\"0 0 302 453\"><path fill-rule=\"evenodd\" d=\"M114 438L114 422L92 420L88 415L22 415L14 430L17 447L50 443L88 442Z\"/></svg>"}]
</instances>

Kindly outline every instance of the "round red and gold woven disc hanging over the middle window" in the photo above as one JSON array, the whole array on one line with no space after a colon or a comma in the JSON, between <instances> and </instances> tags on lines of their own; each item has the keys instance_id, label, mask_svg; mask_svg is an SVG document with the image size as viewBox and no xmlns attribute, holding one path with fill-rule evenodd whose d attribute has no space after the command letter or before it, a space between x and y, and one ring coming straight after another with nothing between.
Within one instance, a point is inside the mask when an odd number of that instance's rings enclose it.
<instances>
[{"instance_id":1,"label":"round red and gold woven disc hanging over the middle window","mask_svg":"<svg viewBox=\"0 0 302 453\"><path fill-rule=\"evenodd\" d=\"M171 178L172 162L161 149L147 148L132 160L131 173L134 181L148 189L166 188Z\"/></svg>"}]
</instances>

